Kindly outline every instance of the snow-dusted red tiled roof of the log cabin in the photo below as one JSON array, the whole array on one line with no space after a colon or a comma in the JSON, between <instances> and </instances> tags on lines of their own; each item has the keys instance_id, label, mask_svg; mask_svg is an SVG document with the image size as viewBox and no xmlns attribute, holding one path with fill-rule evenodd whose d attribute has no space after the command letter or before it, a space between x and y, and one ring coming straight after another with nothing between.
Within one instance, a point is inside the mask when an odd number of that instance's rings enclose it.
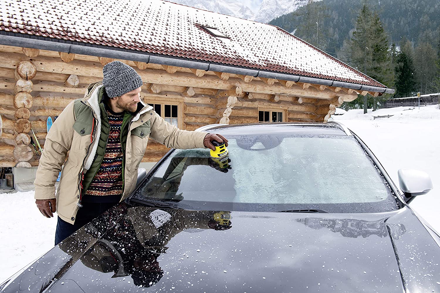
<instances>
[{"instance_id":1,"label":"snow-dusted red tiled roof of the log cabin","mask_svg":"<svg viewBox=\"0 0 440 293\"><path fill-rule=\"evenodd\" d=\"M161 0L0 1L2 31L385 87L273 25Z\"/></svg>"}]
</instances>

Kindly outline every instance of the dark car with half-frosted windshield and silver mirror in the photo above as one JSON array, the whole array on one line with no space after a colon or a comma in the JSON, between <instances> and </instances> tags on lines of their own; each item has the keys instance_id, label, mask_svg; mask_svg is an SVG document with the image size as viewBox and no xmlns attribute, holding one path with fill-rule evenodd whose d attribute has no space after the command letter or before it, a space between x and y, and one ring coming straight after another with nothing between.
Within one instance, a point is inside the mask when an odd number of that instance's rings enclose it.
<instances>
[{"instance_id":1,"label":"dark car with half-frosted windshield and silver mirror","mask_svg":"<svg viewBox=\"0 0 440 293\"><path fill-rule=\"evenodd\" d=\"M400 191L337 122L201 130L227 158L170 150L0 292L440 291L440 236L408 206L427 174L399 170Z\"/></svg>"}]
</instances>

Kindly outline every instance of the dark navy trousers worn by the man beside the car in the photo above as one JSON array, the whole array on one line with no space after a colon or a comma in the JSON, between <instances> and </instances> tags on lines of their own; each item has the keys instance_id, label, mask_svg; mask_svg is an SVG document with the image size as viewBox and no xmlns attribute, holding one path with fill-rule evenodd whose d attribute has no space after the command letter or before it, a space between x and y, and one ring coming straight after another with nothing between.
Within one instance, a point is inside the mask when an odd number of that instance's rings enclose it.
<instances>
[{"instance_id":1,"label":"dark navy trousers worn by the man beside the car","mask_svg":"<svg viewBox=\"0 0 440 293\"><path fill-rule=\"evenodd\" d=\"M70 224L58 217L55 231L55 246L116 204L117 203L83 203L83 207L79 208L77 212L75 224Z\"/></svg>"}]
</instances>

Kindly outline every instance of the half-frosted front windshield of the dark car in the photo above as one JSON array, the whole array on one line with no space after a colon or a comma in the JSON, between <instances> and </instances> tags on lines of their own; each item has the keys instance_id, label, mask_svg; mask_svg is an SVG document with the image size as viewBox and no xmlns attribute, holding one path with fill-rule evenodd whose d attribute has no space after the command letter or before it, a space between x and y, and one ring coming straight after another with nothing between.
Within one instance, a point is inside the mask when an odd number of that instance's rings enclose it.
<instances>
[{"instance_id":1,"label":"half-frosted front windshield of the dark car","mask_svg":"<svg viewBox=\"0 0 440 293\"><path fill-rule=\"evenodd\" d=\"M352 136L288 129L237 134L241 128L234 129L215 131L229 140L227 157L213 159L203 148L173 150L131 200L189 210L375 213L399 208Z\"/></svg>"}]
</instances>

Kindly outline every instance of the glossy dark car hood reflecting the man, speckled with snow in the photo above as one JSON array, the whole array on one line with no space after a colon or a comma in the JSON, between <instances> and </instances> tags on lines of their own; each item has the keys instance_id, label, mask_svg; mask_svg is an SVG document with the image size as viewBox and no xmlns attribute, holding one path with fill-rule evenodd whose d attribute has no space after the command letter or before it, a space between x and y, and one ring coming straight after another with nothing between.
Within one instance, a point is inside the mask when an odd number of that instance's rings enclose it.
<instances>
[{"instance_id":1,"label":"glossy dark car hood reflecting the man, speckled with snow","mask_svg":"<svg viewBox=\"0 0 440 293\"><path fill-rule=\"evenodd\" d=\"M228 214L121 204L4 292L440 290L439 246L408 207L375 214L234 211L231 227L221 219Z\"/></svg>"}]
</instances>

